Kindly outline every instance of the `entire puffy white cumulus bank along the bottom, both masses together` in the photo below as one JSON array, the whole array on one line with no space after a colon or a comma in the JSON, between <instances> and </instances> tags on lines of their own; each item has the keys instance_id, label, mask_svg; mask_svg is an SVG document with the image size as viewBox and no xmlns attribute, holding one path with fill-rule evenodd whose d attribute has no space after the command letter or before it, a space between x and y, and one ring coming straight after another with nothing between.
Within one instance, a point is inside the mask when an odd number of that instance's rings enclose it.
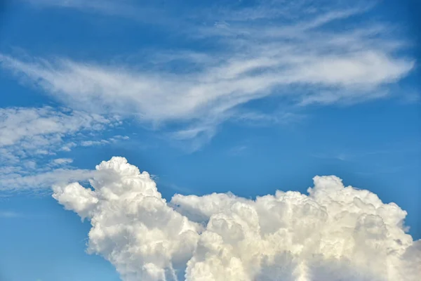
<instances>
[{"instance_id":1,"label":"entire puffy white cumulus bank along the bottom, both masses together","mask_svg":"<svg viewBox=\"0 0 421 281\"><path fill-rule=\"evenodd\" d=\"M91 188L53 188L65 209L91 220L88 252L123 280L418 280L421 242L403 211L368 190L316 176L300 192L248 200L175 195L166 202L147 172L113 157Z\"/></svg>"}]
</instances>

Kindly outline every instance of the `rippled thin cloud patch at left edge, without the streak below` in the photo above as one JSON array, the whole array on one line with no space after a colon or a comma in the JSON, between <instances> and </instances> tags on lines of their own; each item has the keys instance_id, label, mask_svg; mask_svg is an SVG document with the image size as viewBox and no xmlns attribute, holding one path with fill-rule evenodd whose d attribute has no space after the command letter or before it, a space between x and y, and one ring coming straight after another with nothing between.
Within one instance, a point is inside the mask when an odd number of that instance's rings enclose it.
<instances>
[{"instance_id":1,"label":"rippled thin cloud patch at left edge, without the streak below","mask_svg":"<svg viewBox=\"0 0 421 281\"><path fill-rule=\"evenodd\" d=\"M2 164L27 161L27 168L35 168L36 158L55 155L67 139L118 123L114 117L52 107L0 108L0 159Z\"/></svg>"}]
</instances>

